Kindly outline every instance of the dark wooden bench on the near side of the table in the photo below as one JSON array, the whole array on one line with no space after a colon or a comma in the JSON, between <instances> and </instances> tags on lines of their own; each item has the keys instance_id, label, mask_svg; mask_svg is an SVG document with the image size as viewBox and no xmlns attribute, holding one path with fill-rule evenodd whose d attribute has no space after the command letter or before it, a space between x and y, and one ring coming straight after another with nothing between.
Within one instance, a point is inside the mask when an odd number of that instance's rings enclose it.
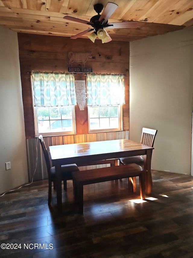
<instances>
[{"instance_id":1,"label":"dark wooden bench on the near side of the table","mask_svg":"<svg viewBox=\"0 0 193 258\"><path fill-rule=\"evenodd\" d=\"M113 166L106 168L95 168L72 173L75 201L78 201L79 211L83 213L83 185L90 185L106 181L118 180L121 178L139 177L140 196L145 199L145 170L137 164L124 166ZM128 187L130 180L128 180Z\"/></svg>"}]
</instances>

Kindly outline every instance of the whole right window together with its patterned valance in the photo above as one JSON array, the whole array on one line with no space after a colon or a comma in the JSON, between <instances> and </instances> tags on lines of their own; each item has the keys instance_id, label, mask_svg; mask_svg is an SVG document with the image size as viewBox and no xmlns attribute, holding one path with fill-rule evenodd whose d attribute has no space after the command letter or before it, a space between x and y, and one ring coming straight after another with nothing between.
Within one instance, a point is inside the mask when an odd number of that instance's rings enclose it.
<instances>
[{"instance_id":1,"label":"whole right window together with its patterned valance","mask_svg":"<svg viewBox=\"0 0 193 258\"><path fill-rule=\"evenodd\" d=\"M123 75L87 74L89 132L122 130Z\"/></svg>"}]
</instances>

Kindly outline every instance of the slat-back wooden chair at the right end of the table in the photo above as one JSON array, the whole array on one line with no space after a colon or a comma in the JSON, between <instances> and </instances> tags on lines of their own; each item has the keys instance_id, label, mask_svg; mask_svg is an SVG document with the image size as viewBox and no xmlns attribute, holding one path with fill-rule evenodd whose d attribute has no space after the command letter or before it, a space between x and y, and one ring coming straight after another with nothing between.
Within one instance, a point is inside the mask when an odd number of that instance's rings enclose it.
<instances>
[{"instance_id":1,"label":"slat-back wooden chair at the right end of the table","mask_svg":"<svg viewBox=\"0 0 193 258\"><path fill-rule=\"evenodd\" d=\"M141 143L150 147L153 147L155 136L157 134L157 130L149 129L149 128L142 128L142 135L141 135ZM133 157L125 157L119 158L121 165L127 165L135 163L140 166L144 166L144 156L133 156ZM132 191L136 191L136 177L129 178L132 183Z\"/></svg>"}]
</instances>

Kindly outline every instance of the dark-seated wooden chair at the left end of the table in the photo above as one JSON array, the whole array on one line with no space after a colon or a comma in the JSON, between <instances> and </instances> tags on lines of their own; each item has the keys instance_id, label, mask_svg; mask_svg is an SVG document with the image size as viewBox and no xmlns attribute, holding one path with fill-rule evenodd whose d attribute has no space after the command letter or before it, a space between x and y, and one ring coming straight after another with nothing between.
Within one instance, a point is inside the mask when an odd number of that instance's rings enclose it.
<instances>
[{"instance_id":1,"label":"dark-seated wooden chair at the left end of the table","mask_svg":"<svg viewBox=\"0 0 193 258\"><path fill-rule=\"evenodd\" d=\"M43 136L39 136L40 144L42 146L43 154L46 161L46 167L48 172L48 205L51 204L51 198L52 198L52 182L55 189L55 167L51 167L50 160L49 160L49 154L46 149L46 145L43 140ZM79 171L79 168L76 164L69 164L69 165L62 165L62 181L64 183L64 190L67 190L67 180L73 179L72 172Z\"/></svg>"}]
</instances>

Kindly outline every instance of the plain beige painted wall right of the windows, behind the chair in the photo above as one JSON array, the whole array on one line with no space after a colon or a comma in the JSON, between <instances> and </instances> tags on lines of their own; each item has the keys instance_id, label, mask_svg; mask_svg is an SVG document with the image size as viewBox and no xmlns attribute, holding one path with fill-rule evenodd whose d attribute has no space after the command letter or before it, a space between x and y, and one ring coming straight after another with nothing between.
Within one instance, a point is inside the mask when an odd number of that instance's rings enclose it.
<instances>
[{"instance_id":1,"label":"plain beige painted wall right of the windows, behind the chair","mask_svg":"<svg viewBox=\"0 0 193 258\"><path fill-rule=\"evenodd\" d=\"M152 168L190 174L193 28L130 44L129 139L157 129Z\"/></svg>"}]
</instances>

